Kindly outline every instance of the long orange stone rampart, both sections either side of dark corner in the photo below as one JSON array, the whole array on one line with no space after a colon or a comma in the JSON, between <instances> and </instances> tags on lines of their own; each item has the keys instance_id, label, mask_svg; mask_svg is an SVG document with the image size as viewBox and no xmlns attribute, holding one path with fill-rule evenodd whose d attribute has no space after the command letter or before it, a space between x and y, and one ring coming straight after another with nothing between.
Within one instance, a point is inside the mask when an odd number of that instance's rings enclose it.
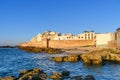
<instances>
[{"instance_id":1,"label":"long orange stone rampart, both sections either side of dark corner","mask_svg":"<svg viewBox=\"0 0 120 80\"><path fill-rule=\"evenodd\" d=\"M19 46L51 47L51 48L78 48L94 45L93 40L44 40L39 42L26 42Z\"/></svg>"}]
</instances>

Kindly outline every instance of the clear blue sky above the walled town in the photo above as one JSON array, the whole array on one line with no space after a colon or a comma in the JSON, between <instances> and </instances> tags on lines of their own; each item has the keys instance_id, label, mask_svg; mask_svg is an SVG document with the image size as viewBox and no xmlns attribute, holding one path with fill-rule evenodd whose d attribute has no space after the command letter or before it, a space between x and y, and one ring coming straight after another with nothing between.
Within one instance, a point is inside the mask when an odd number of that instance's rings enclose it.
<instances>
[{"instance_id":1,"label":"clear blue sky above the walled town","mask_svg":"<svg viewBox=\"0 0 120 80\"><path fill-rule=\"evenodd\" d=\"M118 27L120 0L0 0L0 45L17 45L47 30L76 35Z\"/></svg>"}]
</instances>

